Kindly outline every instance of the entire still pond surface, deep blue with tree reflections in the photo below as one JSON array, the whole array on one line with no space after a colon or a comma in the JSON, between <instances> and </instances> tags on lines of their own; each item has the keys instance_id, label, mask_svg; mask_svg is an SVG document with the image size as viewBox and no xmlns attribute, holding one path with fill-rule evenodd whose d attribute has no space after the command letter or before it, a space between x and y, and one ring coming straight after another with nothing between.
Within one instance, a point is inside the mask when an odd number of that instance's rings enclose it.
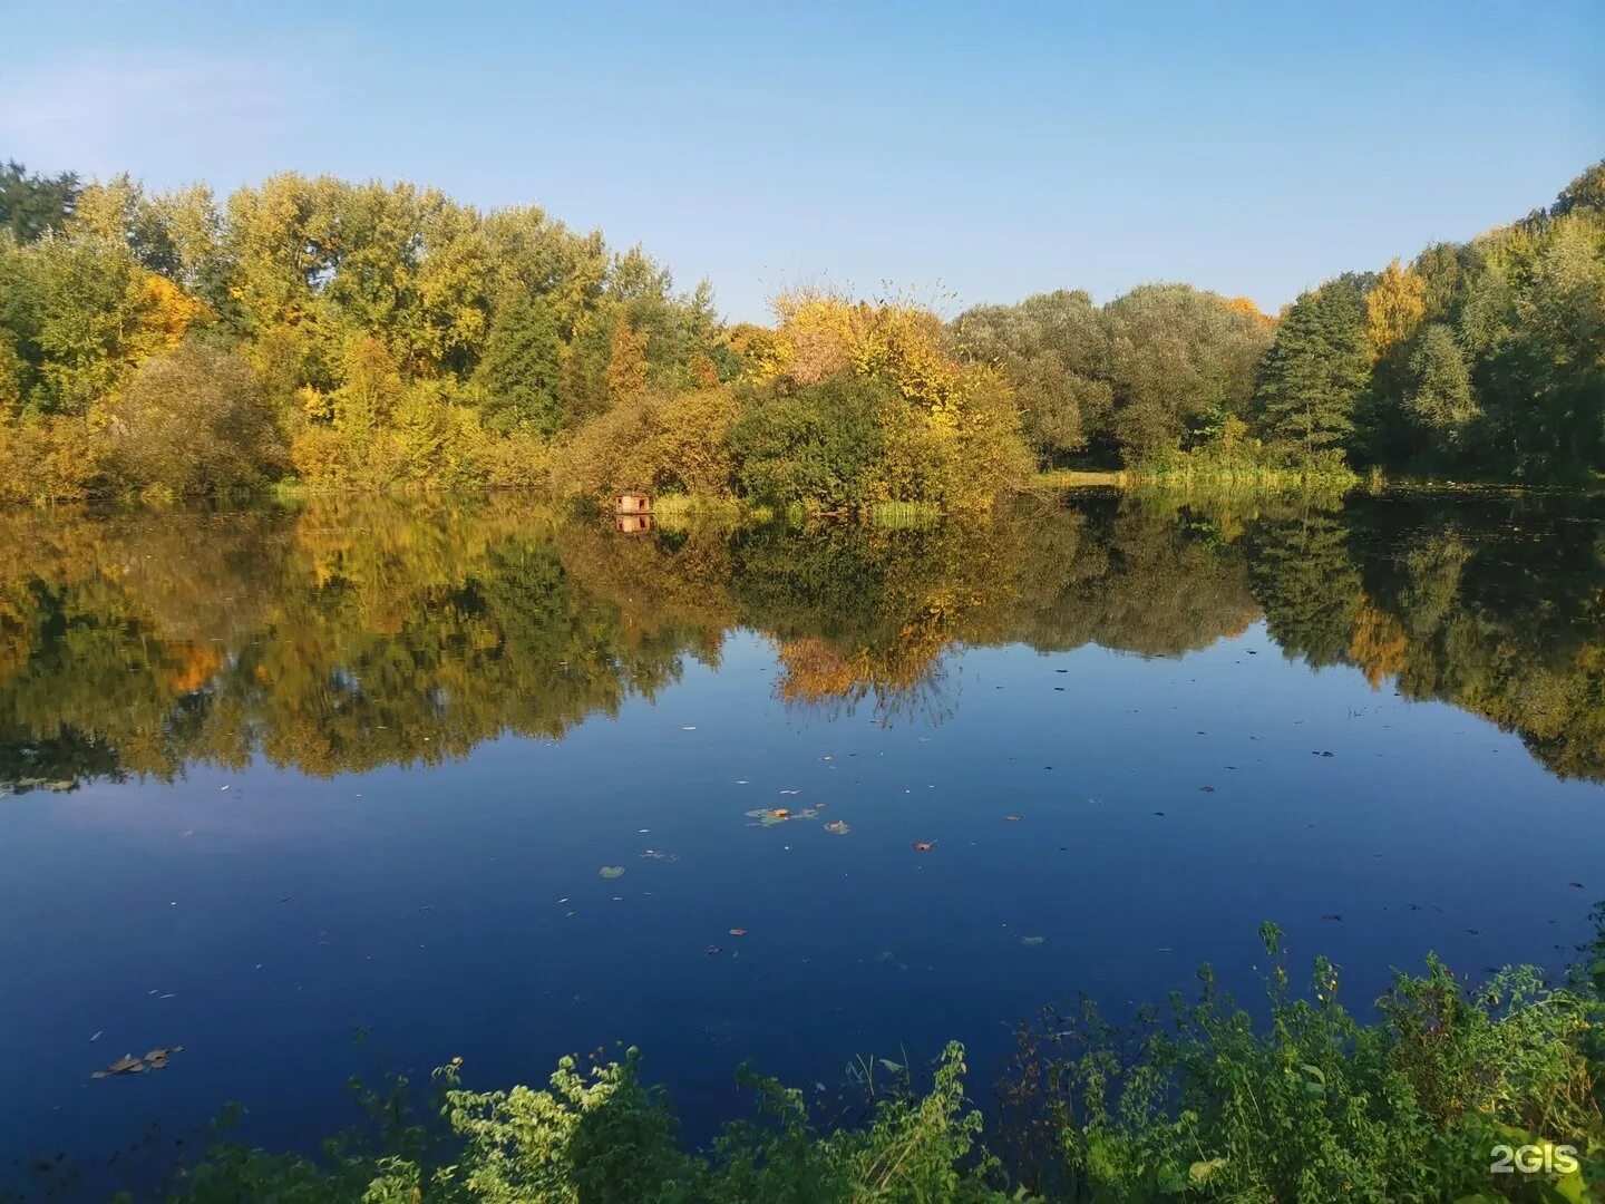
<instances>
[{"instance_id":1,"label":"entire still pond surface, deep blue with tree reflections","mask_svg":"<svg viewBox=\"0 0 1605 1204\"><path fill-rule=\"evenodd\" d=\"M1602 780L1600 501L8 512L0 1180L136 1185L228 1100L310 1143L376 1055L626 1040L703 1135L743 1060L958 1037L985 1098L1013 1021L1245 986L1268 918L1361 1007L1428 949L1558 966Z\"/></svg>"}]
</instances>

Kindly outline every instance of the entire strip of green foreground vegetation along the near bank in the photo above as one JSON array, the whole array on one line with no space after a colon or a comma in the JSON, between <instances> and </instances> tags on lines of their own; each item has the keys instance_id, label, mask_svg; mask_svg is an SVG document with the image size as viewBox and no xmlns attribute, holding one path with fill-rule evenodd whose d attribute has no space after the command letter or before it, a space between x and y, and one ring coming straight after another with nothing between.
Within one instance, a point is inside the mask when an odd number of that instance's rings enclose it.
<instances>
[{"instance_id":1,"label":"entire strip of green foreground vegetation along the near bank","mask_svg":"<svg viewBox=\"0 0 1605 1204\"><path fill-rule=\"evenodd\" d=\"M1605 907L1595 909L1605 925ZM433 1090L360 1093L369 1124L318 1157L220 1141L170 1185L178 1201L1579 1201L1605 1183L1605 934L1563 982L1531 966L1470 989L1428 957L1361 1019L1340 970L1292 986L1262 929L1265 1000L1220 995L1209 968L1114 1026L1090 1005L1021 1027L997 1112L976 1109L957 1043L924 1072L852 1084L836 1124L802 1092L743 1069L751 1098L689 1149L642 1060L546 1088L475 1092L453 1061ZM985 1143L985 1145L984 1145ZM990 1146L990 1153L987 1149ZM1512 1154L1515 1169L1491 1165ZM1522 1153L1533 1148L1538 1153ZM1547 1151L1547 1153L1546 1153ZM1507 1159L1509 1161L1509 1159ZM1536 1169L1520 1169L1536 1167ZM1592 1185L1592 1186L1591 1186Z\"/></svg>"}]
</instances>

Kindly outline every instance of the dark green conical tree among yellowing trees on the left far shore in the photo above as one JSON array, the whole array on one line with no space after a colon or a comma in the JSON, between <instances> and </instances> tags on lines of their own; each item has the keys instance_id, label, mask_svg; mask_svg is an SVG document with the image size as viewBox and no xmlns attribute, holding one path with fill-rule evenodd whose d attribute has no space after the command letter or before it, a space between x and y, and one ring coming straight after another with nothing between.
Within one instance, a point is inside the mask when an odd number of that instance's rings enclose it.
<instances>
[{"instance_id":1,"label":"dark green conical tree among yellowing trees on the left far shore","mask_svg":"<svg viewBox=\"0 0 1605 1204\"><path fill-rule=\"evenodd\" d=\"M475 376L485 397L480 405L485 425L499 432L533 427L555 435L562 424L557 405L562 363L563 340L552 307L530 292L502 302Z\"/></svg>"}]
</instances>

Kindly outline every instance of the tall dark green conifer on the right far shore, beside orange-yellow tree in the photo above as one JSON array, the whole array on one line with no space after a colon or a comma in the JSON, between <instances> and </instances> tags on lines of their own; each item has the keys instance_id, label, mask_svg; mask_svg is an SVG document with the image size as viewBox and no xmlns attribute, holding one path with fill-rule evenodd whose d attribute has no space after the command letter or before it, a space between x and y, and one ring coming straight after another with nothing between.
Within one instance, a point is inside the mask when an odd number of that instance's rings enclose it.
<instances>
[{"instance_id":1,"label":"tall dark green conifer on the right far shore, beside orange-yellow tree","mask_svg":"<svg viewBox=\"0 0 1605 1204\"><path fill-rule=\"evenodd\" d=\"M1342 276L1305 292L1276 329L1258 371L1260 435L1303 461L1342 453L1371 382L1363 281Z\"/></svg>"}]
</instances>

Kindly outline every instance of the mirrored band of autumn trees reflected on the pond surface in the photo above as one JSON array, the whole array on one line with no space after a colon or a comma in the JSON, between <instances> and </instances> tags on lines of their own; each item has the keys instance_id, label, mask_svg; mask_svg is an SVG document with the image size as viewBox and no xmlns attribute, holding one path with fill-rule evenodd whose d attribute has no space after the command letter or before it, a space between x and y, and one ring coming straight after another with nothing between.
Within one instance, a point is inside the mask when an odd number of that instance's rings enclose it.
<instances>
[{"instance_id":1,"label":"mirrored band of autumn trees reflected on the pond surface","mask_svg":"<svg viewBox=\"0 0 1605 1204\"><path fill-rule=\"evenodd\" d=\"M560 738L733 628L775 694L939 722L963 645L1175 657L1263 615L1605 777L1597 499L1027 501L984 525L620 535L526 499L286 512L0 514L0 790L254 756L332 775ZM1069 685L1074 689L1074 684Z\"/></svg>"}]
</instances>

